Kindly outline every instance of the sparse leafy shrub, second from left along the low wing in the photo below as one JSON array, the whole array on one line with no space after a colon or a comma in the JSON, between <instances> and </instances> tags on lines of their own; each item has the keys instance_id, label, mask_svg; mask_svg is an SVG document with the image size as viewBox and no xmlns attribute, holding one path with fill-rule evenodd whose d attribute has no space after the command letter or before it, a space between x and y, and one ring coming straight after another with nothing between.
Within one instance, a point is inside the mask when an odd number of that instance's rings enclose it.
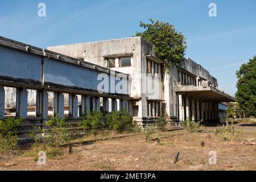
<instances>
[{"instance_id":1,"label":"sparse leafy shrub, second from left along the low wing","mask_svg":"<svg viewBox=\"0 0 256 182\"><path fill-rule=\"evenodd\" d=\"M46 122L46 126L51 127L51 129L47 130L49 132L49 137L47 137L49 144L52 146L60 146L70 142L71 135L69 134L68 125L64 118L60 118L59 115L56 115Z\"/></svg>"}]
</instances>

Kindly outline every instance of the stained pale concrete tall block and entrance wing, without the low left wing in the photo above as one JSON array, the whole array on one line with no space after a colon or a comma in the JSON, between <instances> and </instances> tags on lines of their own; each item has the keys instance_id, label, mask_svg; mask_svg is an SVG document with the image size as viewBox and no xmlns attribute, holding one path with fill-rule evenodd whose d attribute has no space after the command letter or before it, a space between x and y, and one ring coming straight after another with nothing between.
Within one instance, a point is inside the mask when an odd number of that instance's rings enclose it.
<instances>
[{"instance_id":1,"label":"stained pale concrete tall block and entrance wing, without the low left wing","mask_svg":"<svg viewBox=\"0 0 256 182\"><path fill-rule=\"evenodd\" d=\"M109 59L114 59L115 67L110 69L130 77L130 96L133 98L130 107L138 106L138 113L133 113L135 110L132 109L131 114L139 122L150 123L162 115L173 121L184 121L186 118L217 121L218 102L233 101L234 97L218 89L216 78L189 58L184 58L183 64L172 67L170 73L165 72L163 62L154 54L154 47L141 37L133 37L48 49L102 67L108 67ZM131 57L131 65L120 67L117 63L121 57ZM148 73L148 67L152 67L154 72ZM143 83L148 79L159 82L157 89L154 88L155 94L143 92Z\"/></svg>"}]
</instances>

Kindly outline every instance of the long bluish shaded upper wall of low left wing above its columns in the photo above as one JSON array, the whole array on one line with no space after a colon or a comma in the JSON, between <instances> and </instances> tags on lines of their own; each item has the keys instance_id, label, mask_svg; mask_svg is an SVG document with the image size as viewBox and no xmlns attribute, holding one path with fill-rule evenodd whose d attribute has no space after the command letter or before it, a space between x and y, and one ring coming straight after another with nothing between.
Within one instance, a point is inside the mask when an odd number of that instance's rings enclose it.
<instances>
[{"instance_id":1,"label":"long bluish shaded upper wall of low left wing above its columns","mask_svg":"<svg viewBox=\"0 0 256 182\"><path fill-rule=\"evenodd\" d=\"M53 92L68 89L72 92L94 92L100 94L129 94L129 81L122 81L123 89L115 90L121 78L128 78L124 73L112 73L107 68L96 64L79 61L73 57L36 48L14 40L0 37L0 81L5 86L5 107L16 106L16 89L26 88L28 106L36 105L36 90L44 89ZM43 60L43 61L42 61ZM102 76L99 77L99 76ZM108 89L102 90L98 84L105 81ZM27 85L26 85L27 84ZM13 86L7 87L7 86ZM33 89L33 90L31 90ZM67 91L67 92L69 92ZM110 96L110 97L111 97ZM49 94L49 106L53 102L53 94ZM65 100L65 104L68 100Z\"/></svg>"}]
</instances>

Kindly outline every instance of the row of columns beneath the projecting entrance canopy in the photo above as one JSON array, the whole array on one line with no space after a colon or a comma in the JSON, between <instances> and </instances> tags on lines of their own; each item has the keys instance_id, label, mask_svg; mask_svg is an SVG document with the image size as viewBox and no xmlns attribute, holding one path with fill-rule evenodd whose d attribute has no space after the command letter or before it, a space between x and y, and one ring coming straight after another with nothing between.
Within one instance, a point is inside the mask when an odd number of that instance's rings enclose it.
<instances>
[{"instance_id":1,"label":"row of columns beneath the projecting entrance canopy","mask_svg":"<svg viewBox=\"0 0 256 182\"><path fill-rule=\"evenodd\" d=\"M218 121L218 102L178 95L179 121L189 118L192 121Z\"/></svg>"}]
</instances>

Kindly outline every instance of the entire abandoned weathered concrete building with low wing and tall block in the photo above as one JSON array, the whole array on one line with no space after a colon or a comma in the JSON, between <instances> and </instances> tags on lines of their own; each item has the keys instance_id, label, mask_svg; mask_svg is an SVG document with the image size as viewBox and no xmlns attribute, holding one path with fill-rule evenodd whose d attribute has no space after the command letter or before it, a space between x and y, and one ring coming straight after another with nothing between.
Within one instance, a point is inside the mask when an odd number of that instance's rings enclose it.
<instances>
[{"instance_id":1,"label":"entire abandoned weathered concrete building with low wing and tall block","mask_svg":"<svg viewBox=\"0 0 256 182\"><path fill-rule=\"evenodd\" d=\"M86 110L127 109L141 125L163 116L216 122L218 104L236 101L189 58L166 72L154 47L133 37L41 49L0 37L0 118L43 123L59 114L74 121ZM126 80L122 92L99 90L101 73L108 86L113 76L114 86Z\"/></svg>"}]
</instances>

